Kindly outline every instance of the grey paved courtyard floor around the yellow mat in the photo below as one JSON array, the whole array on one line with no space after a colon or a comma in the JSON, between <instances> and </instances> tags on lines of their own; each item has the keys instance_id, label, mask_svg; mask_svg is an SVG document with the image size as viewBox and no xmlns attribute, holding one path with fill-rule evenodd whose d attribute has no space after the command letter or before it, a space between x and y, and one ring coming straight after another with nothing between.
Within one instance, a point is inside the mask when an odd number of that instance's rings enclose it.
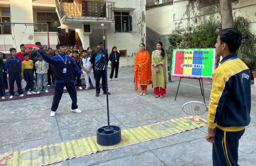
<instances>
[{"instance_id":1,"label":"grey paved courtyard floor around the yellow mat","mask_svg":"<svg viewBox=\"0 0 256 166\"><path fill-rule=\"evenodd\" d=\"M110 71L110 70L109 70ZM110 73L108 73L109 75ZM182 79L174 101L179 78L167 84L163 99L154 98L148 86L147 95L134 93L133 68L119 69L119 80L108 82L110 124L122 129L149 125L187 116L181 106L188 101L203 101L198 80ZM84 82L84 80L83 80ZM206 103L211 80L203 80ZM49 117L53 96L0 102L0 153L24 150L46 144L95 136L97 128L107 124L106 95L95 97L95 90L78 91L78 107L82 113L70 111L71 99L64 93L56 117ZM256 96L252 95L251 123L239 144L239 164L256 163ZM206 119L207 113L202 115ZM207 127L97 152L52 164L54 166L85 165L212 165L211 144L205 140Z\"/></svg>"}]
</instances>

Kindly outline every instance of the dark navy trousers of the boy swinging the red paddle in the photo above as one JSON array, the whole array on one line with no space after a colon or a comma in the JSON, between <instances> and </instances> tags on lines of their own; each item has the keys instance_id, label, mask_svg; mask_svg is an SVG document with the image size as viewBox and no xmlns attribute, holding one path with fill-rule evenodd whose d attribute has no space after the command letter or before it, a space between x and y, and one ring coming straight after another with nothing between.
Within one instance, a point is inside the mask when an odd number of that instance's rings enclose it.
<instances>
[{"instance_id":1,"label":"dark navy trousers of the boy swinging the red paddle","mask_svg":"<svg viewBox=\"0 0 256 166\"><path fill-rule=\"evenodd\" d=\"M58 104L60 103L61 96L63 94L64 86L67 88L68 94L72 100L71 109L77 109L77 89L75 88L74 82L69 83L54 83L54 95L53 95L53 103L51 105L51 111L56 111L58 108Z\"/></svg>"}]
</instances>

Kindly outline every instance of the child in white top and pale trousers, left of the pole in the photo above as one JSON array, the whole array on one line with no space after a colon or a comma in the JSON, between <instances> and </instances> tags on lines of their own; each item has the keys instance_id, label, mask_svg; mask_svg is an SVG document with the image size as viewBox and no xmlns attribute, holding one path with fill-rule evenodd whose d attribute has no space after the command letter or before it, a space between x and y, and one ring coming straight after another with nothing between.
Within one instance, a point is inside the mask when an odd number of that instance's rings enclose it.
<instances>
[{"instance_id":1,"label":"child in white top and pale trousers, left of the pole","mask_svg":"<svg viewBox=\"0 0 256 166\"><path fill-rule=\"evenodd\" d=\"M82 50L82 56L83 58L79 65L81 66L81 68L83 69L83 73L85 74L85 90L88 90L90 88L89 77L93 84L93 88L95 89L95 79L92 70L93 64L91 64L90 57L87 56L86 50Z\"/></svg>"}]
</instances>

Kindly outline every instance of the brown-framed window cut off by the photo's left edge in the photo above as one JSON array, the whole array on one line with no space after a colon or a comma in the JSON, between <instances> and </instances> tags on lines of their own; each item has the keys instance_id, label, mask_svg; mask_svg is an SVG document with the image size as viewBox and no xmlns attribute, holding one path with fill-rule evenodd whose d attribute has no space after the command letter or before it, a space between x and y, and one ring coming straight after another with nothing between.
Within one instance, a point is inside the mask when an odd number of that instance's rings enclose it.
<instances>
[{"instance_id":1,"label":"brown-framed window cut off by the photo's left edge","mask_svg":"<svg viewBox=\"0 0 256 166\"><path fill-rule=\"evenodd\" d=\"M11 22L11 10L7 7L0 7L0 17L1 22ZM10 24L2 24L0 25L0 34L11 34L11 25Z\"/></svg>"}]
</instances>

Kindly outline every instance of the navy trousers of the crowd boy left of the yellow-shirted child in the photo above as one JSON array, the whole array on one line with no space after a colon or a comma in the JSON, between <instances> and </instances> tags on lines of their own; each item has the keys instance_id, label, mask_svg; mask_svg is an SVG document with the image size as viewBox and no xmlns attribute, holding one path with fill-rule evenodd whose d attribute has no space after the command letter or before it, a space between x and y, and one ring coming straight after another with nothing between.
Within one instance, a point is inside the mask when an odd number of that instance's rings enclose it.
<instances>
[{"instance_id":1,"label":"navy trousers of the crowd boy left of the yellow-shirted child","mask_svg":"<svg viewBox=\"0 0 256 166\"><path fill-rule=\"evenodd\" d=\"M18 87L19 95L23 94L23 90L21 88L21 75L11 75L11 74L9 74L8 80L9 80L10 95L11 96L14 96L14 82L15 81L16 81L16 84L17 84L17 87Z\"/></svg>"}]
</instances>

